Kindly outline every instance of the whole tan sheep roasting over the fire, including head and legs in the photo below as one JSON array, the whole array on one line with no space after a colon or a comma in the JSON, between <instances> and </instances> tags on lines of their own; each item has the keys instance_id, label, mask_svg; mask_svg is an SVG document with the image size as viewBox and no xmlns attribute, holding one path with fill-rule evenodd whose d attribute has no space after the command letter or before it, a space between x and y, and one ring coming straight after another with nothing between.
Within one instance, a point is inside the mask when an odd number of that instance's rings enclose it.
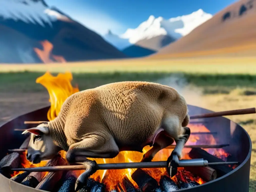
<instances>
[{"instance_id":1,"label":"whole tan sheep roasting over the fire, including head and legs","mask_svg":"<svg viewBox=\"0 0 256 192\"><path fill-rule=\"evenodd\" d=\"M178 164L190 135L187 112L185 99L175 89L157 83L117 82L80 91L66 99L57 118L28 130L42 135L34 142L36 135L31 134L29 159L39 161L56 150L67 151L70 163L86 166L76 189L96 171L95 162L87 157L113 158L122 150L142 152L153 145L141 159L151 161L175 141L168 162Z\"/></svg>"}]
</instances>

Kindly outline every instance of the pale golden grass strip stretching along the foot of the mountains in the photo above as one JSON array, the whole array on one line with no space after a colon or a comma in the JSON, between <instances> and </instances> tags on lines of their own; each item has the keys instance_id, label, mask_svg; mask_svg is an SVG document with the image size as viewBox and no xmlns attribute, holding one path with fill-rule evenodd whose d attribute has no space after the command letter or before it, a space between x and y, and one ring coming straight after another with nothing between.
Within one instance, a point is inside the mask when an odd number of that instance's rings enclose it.
<instances>
[{"instance_id":1,"label":"pale golden grass strip stretching along the foot of the mountains","mask_svg":"<svg viewBox=\"0 0 256 192\"><path fill-rule=\"evenodd\" d=\"M183 72L197 74L256 74L256 57L212 57L182 59L123 59L51 64L0 64L0 72L37 71L72 73Z\"/></svg>"}]
</instances>

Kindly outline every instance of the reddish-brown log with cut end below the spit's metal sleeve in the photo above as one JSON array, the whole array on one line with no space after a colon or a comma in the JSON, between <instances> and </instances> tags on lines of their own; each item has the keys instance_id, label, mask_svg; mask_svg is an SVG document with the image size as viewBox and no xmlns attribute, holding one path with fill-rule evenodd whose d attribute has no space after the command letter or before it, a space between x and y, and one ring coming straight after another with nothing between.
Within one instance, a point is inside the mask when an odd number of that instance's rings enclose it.
<instances>
[{"instance_id":1,"label":"reddish-brown log with cut end below the spit's metal sleeve","mask_svg":"<svg viewBox=\"0 0 256 192\"><path fill-rule=\"evenodd\" d=\"M184 167L186 171L193 173L201 177L206 182L212 181L217 178L217 172L215 169L206 166L206 167Z\"/></svg>"}]
</instances>

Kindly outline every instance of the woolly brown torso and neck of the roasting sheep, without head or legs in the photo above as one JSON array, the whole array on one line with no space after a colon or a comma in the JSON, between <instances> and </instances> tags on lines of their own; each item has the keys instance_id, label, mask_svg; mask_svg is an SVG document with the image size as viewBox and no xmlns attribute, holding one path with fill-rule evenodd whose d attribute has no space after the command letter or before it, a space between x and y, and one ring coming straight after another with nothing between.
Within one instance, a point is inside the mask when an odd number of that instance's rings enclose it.
<instances>
[{"instance_id":1,"label":"woolly brown torso and neck of the roasting sheep, without head or legs","mask_svg":"<svg viewBox=\"0 0 256 192\"><path fill-rule=\"evenodd\" d=\"M186 102L175 89L157 83L128 81L71 95L49 125L53 140L64 150L84 138L97 136L106 143L114 140L111 142L117 144L119 151L122 148L141 151L143 143L168 121L171 125L173 120L178 120L173 130L167 130L169 136L181 136L182 127L189 122L186 114ZM95 143L95 147L99 146Z\"/></svg>"}]
</instances>

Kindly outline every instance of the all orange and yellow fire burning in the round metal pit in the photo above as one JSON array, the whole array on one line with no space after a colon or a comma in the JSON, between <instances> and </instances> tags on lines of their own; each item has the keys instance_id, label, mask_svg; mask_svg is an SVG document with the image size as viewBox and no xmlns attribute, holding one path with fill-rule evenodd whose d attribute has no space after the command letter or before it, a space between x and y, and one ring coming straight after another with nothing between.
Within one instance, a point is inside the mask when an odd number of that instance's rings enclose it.
<instances>
[{"instance_id":1,"label":"all orange and yellow fire burning in the round metal pit","mask_svg":"<svg viewBox=\"0 0 256 192\"><path fill-rule=\"evenodd\" d=\"M46 72L43 76L38 77L36 79L37 83L42 84L48 91L50 96L50 109L47 113L48 120L53 120L58 115L61 105L69 97L71 94L78 92L78 86L73 87L71 84L72 74L67 73L59 73L57 77L52 76L49 72ZM189 124L191 132L210 132L204 125L200 124ZM215 145L218 144L218 141L215 140L212 134L191 134L190 138L186 145ZM150 150L151 147L146 146L143 149L143 153ZM163 149L159 151L153 161L166 161L168 156L171 154L173 149ZM188 155L191 151L191 148L183 149L183 158L191 159ZM230 155L226 153L221 148L209 148L205 149L209 154L214 155L223 161L227 160L227 157ZM143 156L143 153L133 152L133 151L122 151L115 158L112 159L94 159L97 163L129 163L129 162L139 162ZM60 152L61 156L65 158L65 152ZM40 164L31 164L26 160L26 151L20 154L21 165L24 168L28 167L39 167L45 166L47 161L41 162ZM92 159L92 158L90 158ZM168 176L166 168L147 168L141 169L147 175L153 177L156 182L159 184L160 180L163 179L163 176ZM190 170L191 171L191 170ZM180 181L182 182L195 182L197 185L203 184L207 182L200 178L198 175L191 173L186 168L178 168L178 174L171 179L178 185ZM83 170L72 171L72 173L78 177ZM129 180L133 184L135 188L140 188L138 186L138 182L134 179L133 174L136 172L136 169L116 169L116 170L98 170L94 173L91 178L95 181L103 183L105 185L106 191L116 190L122 191L125 189L124 181ZM22 172L14 172L12 176L20 174ZM44 177L47 173L44 172ZM120 189L122 188L122 189Z\"/></svg>"}]
</instances>

